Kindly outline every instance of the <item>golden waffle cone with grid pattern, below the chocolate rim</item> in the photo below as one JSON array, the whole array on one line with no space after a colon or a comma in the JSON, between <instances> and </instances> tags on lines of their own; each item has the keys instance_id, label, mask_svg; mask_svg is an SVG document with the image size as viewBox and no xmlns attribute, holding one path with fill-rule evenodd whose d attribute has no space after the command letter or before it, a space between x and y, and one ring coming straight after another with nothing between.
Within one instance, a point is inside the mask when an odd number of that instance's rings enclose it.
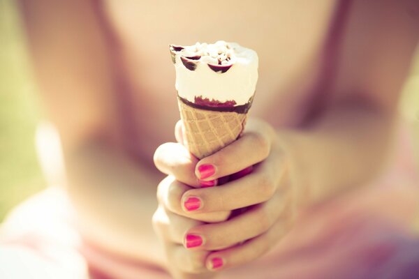
<instances>
[{"instance_id":1,"label":"golden waffle cone with grid pattern, below the chocolate rim","mask_svg":"<svg viewBox=\"0 0 419 279\"><path fill-rule=\"evenodd\" d=\"M242 134L247 114L200 110L178 100L184 123L184 144L202 159L234 142Z\"/></svg>"}]
</instances>

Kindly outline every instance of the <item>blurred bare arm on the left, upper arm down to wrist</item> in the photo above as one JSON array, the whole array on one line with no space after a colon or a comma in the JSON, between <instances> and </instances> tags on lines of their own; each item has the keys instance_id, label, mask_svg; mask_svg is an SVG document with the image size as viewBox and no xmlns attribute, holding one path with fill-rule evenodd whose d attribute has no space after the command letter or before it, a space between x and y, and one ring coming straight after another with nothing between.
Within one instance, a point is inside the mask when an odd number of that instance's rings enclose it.
<instances>
[{"instance_id":1,"label":"blurred bare arm on the left, upper arm down to wrist","mask_svg":"<svg viewBox=\"0 0 419 279\"><path fill-rule=\"evenodd\" d=\"M49 118L58 128L68 193L96 245L161 264L152 231L156 172L119 146L111 50L94 1L26 1L22 12Z\"/></svg>"}]
</instances>

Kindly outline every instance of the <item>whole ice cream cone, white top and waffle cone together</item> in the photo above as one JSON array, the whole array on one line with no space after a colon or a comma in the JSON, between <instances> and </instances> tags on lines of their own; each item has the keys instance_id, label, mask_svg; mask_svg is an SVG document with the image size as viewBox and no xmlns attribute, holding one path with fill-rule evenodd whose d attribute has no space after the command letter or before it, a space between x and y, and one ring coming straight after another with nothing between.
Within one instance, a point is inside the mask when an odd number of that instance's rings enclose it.
<instances>
[{"instance_id":1,"label":"whole ice cream cone, white top and waffle cone together","mask_svg":"<svg viewBox=\"0 0 419 279\"><path fill-rule=\"evenodd\" d=\"M258 55L237 43L170 45L189 151L203 158L240 136L258 80Z\"/></svg>"}]
</instances>

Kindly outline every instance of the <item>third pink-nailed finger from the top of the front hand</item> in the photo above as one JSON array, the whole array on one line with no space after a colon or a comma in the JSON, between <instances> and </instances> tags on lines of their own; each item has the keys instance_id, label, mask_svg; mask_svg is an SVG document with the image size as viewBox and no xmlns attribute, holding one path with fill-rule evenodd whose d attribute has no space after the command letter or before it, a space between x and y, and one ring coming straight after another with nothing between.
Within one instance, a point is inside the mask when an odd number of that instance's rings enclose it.
<instances>
[{"instance_id":1,"label":"third pink-nailed finger from the top of the front hand","mask_svg":"<svg viewBox=\"0 0 419 279\"><path fill-rule=\"evenodd\" d=\"M289 192L278 191L269 201L252 206L226 222L191 227L186 232L185 247L221 250L267 232L279 218L288 215Z\"/></svg>"}]
</instances>

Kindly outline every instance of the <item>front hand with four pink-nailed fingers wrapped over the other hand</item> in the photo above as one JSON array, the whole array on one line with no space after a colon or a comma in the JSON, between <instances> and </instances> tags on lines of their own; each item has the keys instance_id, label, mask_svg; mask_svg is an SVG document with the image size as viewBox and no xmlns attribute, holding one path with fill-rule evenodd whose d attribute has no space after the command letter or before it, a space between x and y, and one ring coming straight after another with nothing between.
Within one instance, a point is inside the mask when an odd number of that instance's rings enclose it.
<instances>
[{"instance_id":1,"label":"front hand with four pink-nailed fingers wrapped over the other hand","mask_svg":"<svg viewBox=\"0 0 419 279\"><path fill-rule=\"evenodd\" d=\"M159 169L165 168L158 162L156 160ZM180 191L182 196L177 194L173 200L172 206L182 210L178 212L179 215L189 217L189 220L202 216L203 213L237 212L236 209L245 209L222 223L189 223L189 228L183 227L182 241L178 239L177 242L184 243L193 252L189 255L195 255L198 262L203 261L200 262L202 266L199 266L201 271L205 270L204 267L214 271L256 259L285 234L292 221L290 209L293 199L286 179L286 156L279 146L276 133L267 123L249 121L239 140L192 165L196 165L192 170L201 181L216 181L225 176L231 177L232 174L236 179L234 176L241 169L249 169L249 166L255 165L253 173L242 179L230 181L220 187L184 188ZM179 172L182 168L173 169ZM196 181L190 173L186 176ZM174 181L172 179L170 183L175 183ZM159 188L168 189L168 184L163 183L161 185L166 187ZM168 190L162 192L168 193ZM162 200L161 197L160 199ZM193 203L194 206L188 206L190 201L199 201L200 206L196 206L197 202ZM174 230L174 227L176 225L169 224L166 231ZM198 254L199 252L204 254Z\"/></svg>"}]
</instances>

